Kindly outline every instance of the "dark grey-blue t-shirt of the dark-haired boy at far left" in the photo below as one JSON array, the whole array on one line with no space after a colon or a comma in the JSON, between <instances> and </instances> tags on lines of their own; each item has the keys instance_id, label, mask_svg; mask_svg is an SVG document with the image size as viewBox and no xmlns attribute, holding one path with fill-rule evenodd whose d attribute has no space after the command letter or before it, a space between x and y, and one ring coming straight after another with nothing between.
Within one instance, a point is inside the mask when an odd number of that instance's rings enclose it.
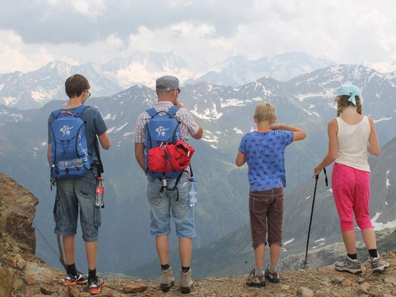
<instances>
[{"instance_id":1,"label":"dark grey-blue t-shirt of the dark-haired boy at far left","mask_svg":"<svg viewBox=\"0 0 396 297\"><path fill-rule=\"evenodd\" d=\"M74 112L76 108L62 108L62 110ZM87 139L87 147L88 153L92 156L93 160L98 160L96 155L94 141L97 135L102 135L107 131L107 126L104 123L104 120L99 113L99 110L96 107L88 106L83 113L81 114L81 119L86 123L85 125L85 137ZM51 113L48 118L48 144L51 145L51 137L50 137L50 126L55 120L55 117ZM99 146L98 146L99 149ZM94 168L96 171L96 168Z\"/></svg>"}]
</instances>

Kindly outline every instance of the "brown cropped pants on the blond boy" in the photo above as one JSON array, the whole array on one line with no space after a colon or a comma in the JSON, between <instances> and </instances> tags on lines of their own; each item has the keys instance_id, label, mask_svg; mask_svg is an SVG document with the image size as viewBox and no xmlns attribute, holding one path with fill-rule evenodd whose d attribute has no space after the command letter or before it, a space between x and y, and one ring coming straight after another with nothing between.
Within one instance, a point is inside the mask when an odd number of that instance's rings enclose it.
<instances>
[{"instance_id":1,"label":"brown cropped pants on the blond boy","mask_svg":"<svg viewBox=\"0 0 396 297\"><path fill-rule=\"evenodd\" d=\"M252 246L261 244L282 246L283 188L249 193L249 216ZM268 221L268 224L267 224Z\"/></svg>"}]
</instances>

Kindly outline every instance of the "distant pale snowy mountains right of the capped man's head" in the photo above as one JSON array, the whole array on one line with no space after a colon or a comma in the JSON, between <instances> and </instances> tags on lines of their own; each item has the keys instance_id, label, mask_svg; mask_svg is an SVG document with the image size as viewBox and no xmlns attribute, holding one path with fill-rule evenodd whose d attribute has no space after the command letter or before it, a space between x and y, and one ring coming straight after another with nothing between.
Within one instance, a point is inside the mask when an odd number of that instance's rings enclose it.
<instances>
[{"instance_id":1,"label":"distant pale snowy mountains right of the capped man's head","mask_svg":"<svg viewBox=\"0 0 396 297\"><path fill-rule=\"evenodd\" d=\"M215 85L237 87L264 76L288 81L299 74L336 64L327 59L312 58L303 52L284 53L258 60L248 60L239 55L226 59L199 78L188 82L205 81Z\"/></svg>"}]
</instances>

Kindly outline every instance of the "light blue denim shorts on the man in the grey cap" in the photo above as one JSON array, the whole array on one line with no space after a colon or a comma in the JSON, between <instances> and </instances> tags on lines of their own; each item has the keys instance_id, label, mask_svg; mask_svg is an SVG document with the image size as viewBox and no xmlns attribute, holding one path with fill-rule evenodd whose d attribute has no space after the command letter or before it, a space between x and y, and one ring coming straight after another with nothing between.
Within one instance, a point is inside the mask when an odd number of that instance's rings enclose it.
<instances>
[{"instance_id":1,"label":"light blue denim shorts on the man in the grey cap","mask_svg":"<svg viewBox=\"0 0 396 297\"><path fill-rule=\"evenodd\" d=\"M150 203L150 234L159 236L169 234L172 213L176 235L183 238L196 237L194 210L189 203L189 184L187 172L183 173L174 191L166 188L160 193L162 183L159 179L148 178L147 197ZM173 189L176 179L167 179L168 189ZM179 199L177 195L179 194Z\"/></svg>"}]
</instances>

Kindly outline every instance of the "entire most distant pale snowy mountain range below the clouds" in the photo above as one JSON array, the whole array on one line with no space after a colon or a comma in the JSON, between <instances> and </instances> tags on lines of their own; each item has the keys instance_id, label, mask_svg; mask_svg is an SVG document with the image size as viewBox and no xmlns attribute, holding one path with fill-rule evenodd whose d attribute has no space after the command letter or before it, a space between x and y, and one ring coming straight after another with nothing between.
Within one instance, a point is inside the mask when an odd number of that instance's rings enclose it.
<instances>
[{"instance_id":1,"label":"entire most distant pale snowy mountain range below the clouds","mask_svg":"<svg viewBox=\"0 0 396 297\"><path fill-rule=\"evenodd\" d=\"M335 64L314 59L304 53L286 53L272 58L247 60L236 56L216 65L202 75L189 68L177 52L137 51L126 58L116 58L106 64L70 65L61 61L28 73L0 75L0 104L19 109L38 108L51 99L67 99L64 81L74 73L85 75L93 96L110 96L133 85L153 88L162 75L175 75L182 83L206 81L224 86L240 86L264 76L288 80L298 74Z\"/></svg>"}]
</instances>

